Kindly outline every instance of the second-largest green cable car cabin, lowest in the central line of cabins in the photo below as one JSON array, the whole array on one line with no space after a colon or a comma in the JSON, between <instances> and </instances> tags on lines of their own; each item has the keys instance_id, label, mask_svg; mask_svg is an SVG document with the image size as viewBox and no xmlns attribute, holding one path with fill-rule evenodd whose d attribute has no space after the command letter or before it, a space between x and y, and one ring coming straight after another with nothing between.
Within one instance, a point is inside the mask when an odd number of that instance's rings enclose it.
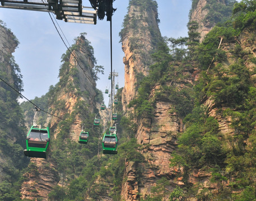
<instances>
[{"instance_id":1,"label":"second-largest green cable car cabin, lowest in the central line of cabins","mask_svg":"<svg viewBox=\"0 0 256 201\"><path fill-rule=\"evenodd\" d=\"M103 154L117 154L117 135L105 133L102 146Z\"/></svg>"}]
</instances>

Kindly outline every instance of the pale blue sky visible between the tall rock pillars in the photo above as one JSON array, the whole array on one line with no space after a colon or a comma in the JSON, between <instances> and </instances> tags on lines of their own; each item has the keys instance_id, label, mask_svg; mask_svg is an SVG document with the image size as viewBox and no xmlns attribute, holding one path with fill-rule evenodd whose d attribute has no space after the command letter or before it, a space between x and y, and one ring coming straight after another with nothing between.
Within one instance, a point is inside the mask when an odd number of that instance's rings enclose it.
<instances>
[{"instance_id":1,"label":"pale blue sky visible between the tall rock pillars","mask_svg":"<svg viewBox=\"0 0 256 201\"><path fill-rule=\"evenodd\" d=\"M123 18L127 14L128 0L116 0L113 4L117 11L113 16L113 69L119 73L119 87L124 85L124 64L122 44L119 42L119 32L122 29ZM187 36L188 13L191 0L158 0L160 31L162 36ZM83 6L90 6L83 0ZM23 75L26 98L41 97L50 85L58 82L60 58L66 52L49 14L46 12L23 11L18 9L0 8L0 20L6 23L20 41L16 49L16 63ZM97 25L67 23L57 20L69 44L80 33L87 33L87 40L94 47L97 65L105 68L105 74L100 76L97 88L104 91L110 72L110 25L106 21L97 20ZM23 101L23 100L22 100Z\"/></svg>"}]
</instances>

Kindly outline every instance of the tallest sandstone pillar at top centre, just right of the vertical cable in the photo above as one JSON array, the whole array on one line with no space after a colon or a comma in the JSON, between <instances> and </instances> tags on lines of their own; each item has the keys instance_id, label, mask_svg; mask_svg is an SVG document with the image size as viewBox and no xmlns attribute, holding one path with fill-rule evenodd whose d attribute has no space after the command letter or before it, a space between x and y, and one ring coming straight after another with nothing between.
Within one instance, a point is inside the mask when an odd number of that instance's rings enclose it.
<instances>
[{"instance_id":1,"label":"tallest sandstone pillar at top centre, just right of the vertical cable","mask_svg":"<svg viewBox=\"0 0 256 201\"><path fill-rule=\"evenodd\" d=\"M120 32L125 55L122 104L127 111L127 105L137 94L137 80L148 74L148 67L152 64L150 54L161 41L156 4L152 0L130 1L123 27Z\"/></svg>"}]
</instances>

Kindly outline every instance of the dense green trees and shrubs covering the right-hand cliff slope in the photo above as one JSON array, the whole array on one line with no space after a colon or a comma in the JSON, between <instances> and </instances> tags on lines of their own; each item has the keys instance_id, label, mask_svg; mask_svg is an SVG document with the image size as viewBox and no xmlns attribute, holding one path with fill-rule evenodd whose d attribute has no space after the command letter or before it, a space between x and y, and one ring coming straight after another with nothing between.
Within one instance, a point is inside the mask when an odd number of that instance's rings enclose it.
<instances>
[{"instance_id":1,"label":"dense green trees and shrubs covering the right-hand cliff slope","mask_svg":"<svg viewBox=\"0 0 256 201\"><path fill-rule=\"evenodd\" d=\"M256 65L252 52L245 52L237 40L240 33L254 30L254 15L255 1L235 3L233 18L214 27L196 47L195 61L201 70L193 87L196 104L192 113L184 118L186 130L179 136L178 150L171 159L171 166L184 167L184 189L188 197L196 196L199 200L256 198L255 193L250 192L255 187L252 175L256 173L253 148ZM250 36L254 41L255 33L251 32ZM234 49L218 49L221 38L225 46L230 44ZM230 55L235 61L233 64L229 63ZM250 69L248 63L252 66ZM204 105L207 99L211 101L211 109ZM213 109L216 118L231 119L232 135L220 131L221 126L209 113ZM210 181L217 186L217 191L211 192L199 183L188 188L193 169L210 173Z\"/></svg>"}]
</instances>

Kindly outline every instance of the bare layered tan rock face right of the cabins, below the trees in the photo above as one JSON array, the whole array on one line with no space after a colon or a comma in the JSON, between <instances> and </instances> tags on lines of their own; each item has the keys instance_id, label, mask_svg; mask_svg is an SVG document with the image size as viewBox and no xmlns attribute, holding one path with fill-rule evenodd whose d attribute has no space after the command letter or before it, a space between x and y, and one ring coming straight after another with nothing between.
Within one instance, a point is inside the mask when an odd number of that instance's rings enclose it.
<instances>
[{"instance_id":1,"label":"bare layered tan rock face right of the cabins, below the trees","mask_svg":"<svg viewBox=\"0 0 256 201\"><path fill-rule=\"evenodd\" d=\"M175 68L180 68L179 64ZM184 75L189 75L188 79L182 82L172 82L166 85L173 85L180 90L186 84L194 81L194 76L190 71L184 71ZM160 85L155 85L151 92L151 99L155 98L155 93L160 89ZM170 192L176 185L184 185L182 177L179 176L182 169L170 167L171 153L178 146L177 135L184 130L182 119L171 112L173 103L168 99L157 99L155 111L152 118L144 117L138 122L136 138L139 144L143 145L141 153L146 161L139 164L142 168L142 175L138 176L137 166L134 162L127 162L126 175L127 182L124 183L122 196L125 200L139 200L146 198L152 192L152 187L156 186L157 180L166 178L169 185L166 187ZM139 177L139 181L138 178Z\"/></svg>"}]
</instances>

